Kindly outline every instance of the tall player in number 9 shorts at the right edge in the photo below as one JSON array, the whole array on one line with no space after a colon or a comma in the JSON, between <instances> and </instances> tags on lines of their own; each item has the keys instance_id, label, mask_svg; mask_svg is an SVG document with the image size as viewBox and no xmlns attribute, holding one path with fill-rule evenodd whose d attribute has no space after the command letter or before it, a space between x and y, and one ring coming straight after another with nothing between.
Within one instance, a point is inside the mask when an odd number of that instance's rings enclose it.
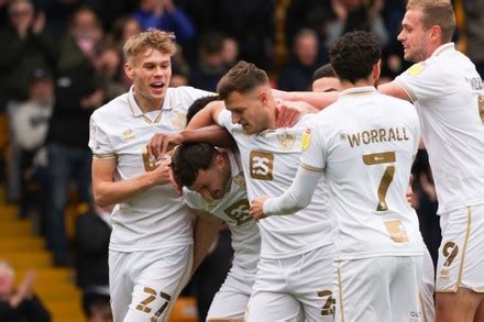
<instances>
[{"instance_id":1,"label":"tall player in number 9 shorts at the right edge","mask_svg":"<svg viewBox=\"0 0 484 322\"><path fill-rule=\"evenodd\" d=\"M451 43L455 18L450 1L410 0L402 25L404 57L417 64L378 90L414 102L420 116L442 229L436 318L484 319L482 79Z\"/></svg>"}]
</instances>

